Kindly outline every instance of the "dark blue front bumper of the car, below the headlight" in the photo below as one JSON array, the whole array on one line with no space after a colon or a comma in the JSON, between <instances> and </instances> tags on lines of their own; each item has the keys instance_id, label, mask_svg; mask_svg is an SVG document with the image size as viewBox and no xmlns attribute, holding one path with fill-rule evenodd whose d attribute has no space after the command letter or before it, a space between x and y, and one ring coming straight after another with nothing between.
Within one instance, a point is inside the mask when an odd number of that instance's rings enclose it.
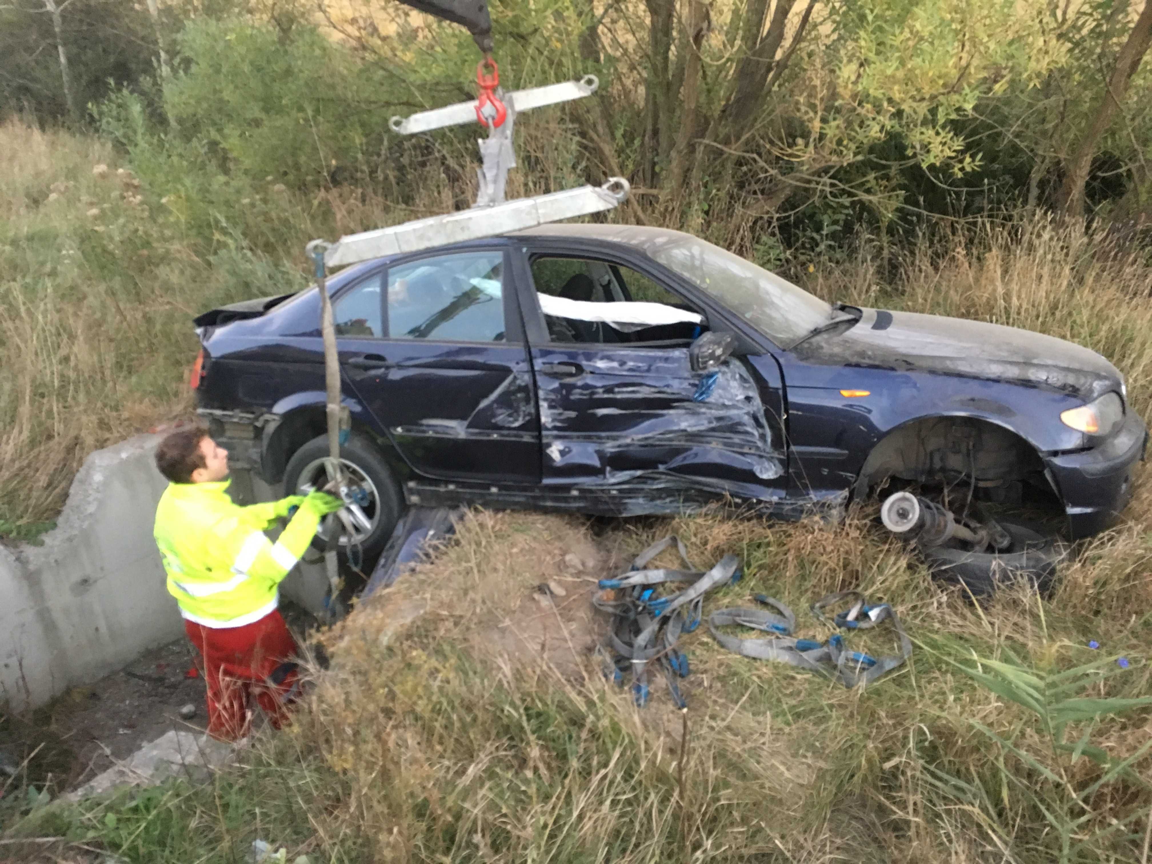
<instances>
[{"instance_id":1,"label":"dark blue front bumper of the car, below the headlight","mask_svg":"<svg viewBox=\"0 0 1152 864\"><path fill-rule=\"evenodd\" d=\"M1064 501L1073 539L1108 528L1132 495L1134 468L1144 458L1149 433L1135 411L1098 447L1045 458Z\"/></svg>"}]
</instances>

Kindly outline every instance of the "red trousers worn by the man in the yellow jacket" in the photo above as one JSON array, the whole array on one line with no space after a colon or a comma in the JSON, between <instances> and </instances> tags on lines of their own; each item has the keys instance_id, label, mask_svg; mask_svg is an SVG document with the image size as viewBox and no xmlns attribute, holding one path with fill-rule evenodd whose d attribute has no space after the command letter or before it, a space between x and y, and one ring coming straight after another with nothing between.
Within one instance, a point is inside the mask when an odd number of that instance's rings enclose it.
<instances>
[{"instance_id":1,"label":"red trousers worn by the man in the yellow jacket","mask_svg":"<svg viewBox=\"0 0 1152 864\"><path fill-rule=\"evenodd\" d=\"M279 612L243 627L204 627L185 619L184 630L209 685L209 735L221 741L248 735L253 699L274 728L288 721L298 679L290 659L296 641Z\"/></svg>"}]
</instances>

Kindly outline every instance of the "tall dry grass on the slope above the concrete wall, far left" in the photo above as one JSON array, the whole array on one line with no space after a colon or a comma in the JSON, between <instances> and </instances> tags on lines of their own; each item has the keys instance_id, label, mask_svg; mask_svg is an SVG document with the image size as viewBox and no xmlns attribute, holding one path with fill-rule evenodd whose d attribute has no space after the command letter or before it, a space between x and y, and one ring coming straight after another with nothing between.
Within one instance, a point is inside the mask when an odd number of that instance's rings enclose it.
<instances>
[{"instance_id":1,"label":"tall dry grass on the slope above the concrete wall, far left","mask_svg":"<svg viewBox=\"0 0 1152 864\"><path fill-rule=\"evenodd\" d=\"M188 404L192 339L106 145L10 120L0 154L0 524L18 528L54 515L89 452Z\"/></svg>"}]
</instances>

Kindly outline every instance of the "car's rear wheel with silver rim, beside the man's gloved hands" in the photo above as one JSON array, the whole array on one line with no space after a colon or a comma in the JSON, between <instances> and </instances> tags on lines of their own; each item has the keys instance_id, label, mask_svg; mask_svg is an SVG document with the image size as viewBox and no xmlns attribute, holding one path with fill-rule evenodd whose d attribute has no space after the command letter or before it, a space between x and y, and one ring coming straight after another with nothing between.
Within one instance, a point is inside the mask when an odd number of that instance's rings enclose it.
<instances>
[{"instance_id":1,"label":"car's rear wheel with silver rim, beside the man's gloved hands","mask_svg":"<svg viewBox=\"0 0 1152 864\"><path fill-rule=\"evenodd\" d=\"M289 495L306 494L308 487L321 488L328 476L325 460L328 457L328 437L320 435L301 447L288 460L285 468L285 490ZM347 559L349 544L358 546L364 566L380 553L396 520L403 511L403 503L388 463L372 441L363 435L350 435L340 448L340 461L351 482L364 493L362 503L349 507L355 525L351 538L341 536L340 553ZM325 526L321 524L312 540L313 548L327 548ZM354 555L355 558L355 555Z\"/></svg>"}]
</instances>

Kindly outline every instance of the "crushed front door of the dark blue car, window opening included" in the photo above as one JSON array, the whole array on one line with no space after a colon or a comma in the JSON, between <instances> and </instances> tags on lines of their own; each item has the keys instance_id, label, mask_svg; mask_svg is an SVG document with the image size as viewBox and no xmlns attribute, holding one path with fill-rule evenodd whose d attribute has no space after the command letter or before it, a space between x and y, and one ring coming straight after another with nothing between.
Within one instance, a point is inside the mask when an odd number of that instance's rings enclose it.
<instances>
[{"instance_id":1,"label":"crushed front door of the dark blue car, window opening included","mask_svg":"<svg viewBox=\"0 0 1152 864\"><path fill-rule=\"evenodd\" d=\"M707 329L705 309L638 262L547 247L525 251L521 298L532 334L546 486L628 493L638 501L674 500L690 490L783 494L782 434L766 416L757 373L735 357L714 374L690 366L689 347ZM612 304L636 301L660 304L653 317L660 323L605 320L619 314ZM578 317L547 314L544 306L577 310ZM677 316L668 310L697 320L668 323Z\"/></svg>"}]
</instances>

